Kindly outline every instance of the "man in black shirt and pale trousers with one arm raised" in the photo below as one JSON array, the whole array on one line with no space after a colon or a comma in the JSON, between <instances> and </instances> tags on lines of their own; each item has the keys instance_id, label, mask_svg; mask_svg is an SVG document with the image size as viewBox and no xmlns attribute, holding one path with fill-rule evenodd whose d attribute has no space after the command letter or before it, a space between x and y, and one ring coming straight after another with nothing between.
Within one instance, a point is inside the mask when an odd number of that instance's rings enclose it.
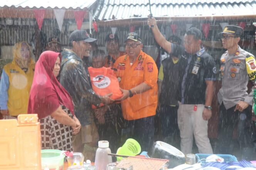
<instances>
[{"instance_id":1,"label":"man in black shirt and pale trousers with one arm raised","mask_svg":"<svg viewBox=\"0 0 256 170\"><path fill-rule=\"evenodd\" d=\"M208 138L208 120L212 116L212 96L216 79L214 59L201 47L202 33L192 27L184 35L184 46L170 43L160 33L155 18L148 18L157 43L180 62L178 125L180 147L192 153L193 134L199 153L212 153ZM177 73L178 74L178 73ZM179 81L179 80L177 80Z\"/></svg>"}]
</instances>

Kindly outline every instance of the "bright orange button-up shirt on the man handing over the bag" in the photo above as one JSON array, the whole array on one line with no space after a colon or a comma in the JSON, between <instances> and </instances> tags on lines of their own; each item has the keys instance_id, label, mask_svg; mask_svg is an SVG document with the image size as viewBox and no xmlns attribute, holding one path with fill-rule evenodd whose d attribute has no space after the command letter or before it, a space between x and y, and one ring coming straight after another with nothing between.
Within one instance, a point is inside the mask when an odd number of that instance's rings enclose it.
<instances>
[{"instance_id":1,"label":"bright orange button-up shirt on the man handing over the bag","mask_svg":"<svg viewBox=\"0 0 256 170\"><path fill-rule=\"evenodd\" d=\"M135 120L154 116L157 109L158 69L153 58L140 51L136 61L130 65L129 56L126 54L116 60L114 68L122 89L129 90L141 83L152 87L121 101L123 117L126 120Z\"/></svg>"}]
</instances>

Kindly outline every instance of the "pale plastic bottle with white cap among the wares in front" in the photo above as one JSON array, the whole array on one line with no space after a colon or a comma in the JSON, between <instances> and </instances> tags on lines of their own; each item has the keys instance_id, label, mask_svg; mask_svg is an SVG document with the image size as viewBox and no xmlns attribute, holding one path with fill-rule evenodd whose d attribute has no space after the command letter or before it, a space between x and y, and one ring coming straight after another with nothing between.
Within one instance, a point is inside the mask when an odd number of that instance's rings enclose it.
<instances>
[{"instance_id":1,"label":"pale plastic bottle with white cap among the wares in front","mask_svg":"<svg viewBox=\"0 0 256 170\"><path fill-rule=\"evenodd\" d=\"M106 140L99 141L95 156L96 170L106 170L108 163L112 162L112 157L108 153L111 153L109 142Z\"/></svg>"}]
</instances>

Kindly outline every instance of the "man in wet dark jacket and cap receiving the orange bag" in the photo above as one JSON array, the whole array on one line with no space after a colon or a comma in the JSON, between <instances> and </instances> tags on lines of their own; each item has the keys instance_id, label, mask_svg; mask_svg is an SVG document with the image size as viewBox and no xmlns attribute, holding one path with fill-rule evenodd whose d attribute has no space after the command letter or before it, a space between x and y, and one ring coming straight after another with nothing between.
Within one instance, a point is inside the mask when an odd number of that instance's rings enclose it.
<instances>
[{"instance_id":1,"label":"man in wet dark jacket and cap receiving the orange bag","mask_svg":"<svg viewBox=\"0 0 256 170\"><path fill-rule=\"evenodd\" d=\"M100 106L100 103L113 102L109 95L101 97L95 94L91 87L87 63L83 58L89 57L90 43L96 41L90 38L86 30L76 30L69 36L72 49L62 51L60 82L71 95L75 116L81 123L80 132L73 137L74 152L83 152L84 148L95 147L98 142L97 128L93 122L93 110L91 105ZM86 146L85 146L86 145ZM84 152L84 157L94 160L95 153L91 150Z\"/></svg>"}]
</instances>

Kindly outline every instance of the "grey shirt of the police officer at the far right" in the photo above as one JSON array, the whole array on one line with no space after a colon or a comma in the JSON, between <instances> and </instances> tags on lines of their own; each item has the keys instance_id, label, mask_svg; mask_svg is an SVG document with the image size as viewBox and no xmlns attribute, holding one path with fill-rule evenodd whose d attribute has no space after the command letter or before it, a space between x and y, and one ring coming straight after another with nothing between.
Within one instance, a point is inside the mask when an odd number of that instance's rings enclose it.
<instances>
[{"instance_id":1,"label":"grey shirt of the police officer at the far right","mask_svg":"<svg viewBox=\"0 0 256 170\"><path fill-rule=\"evenodd\" d=\"M219 104L223 102L226 109L235 106L239 101L253 104L253 91L247 93L249 77L245 59L248 55L253 56L238 46L235 54L226 51L221 56L222 87L218 92L218 101Z\"/></svg>"}]
</instances>

